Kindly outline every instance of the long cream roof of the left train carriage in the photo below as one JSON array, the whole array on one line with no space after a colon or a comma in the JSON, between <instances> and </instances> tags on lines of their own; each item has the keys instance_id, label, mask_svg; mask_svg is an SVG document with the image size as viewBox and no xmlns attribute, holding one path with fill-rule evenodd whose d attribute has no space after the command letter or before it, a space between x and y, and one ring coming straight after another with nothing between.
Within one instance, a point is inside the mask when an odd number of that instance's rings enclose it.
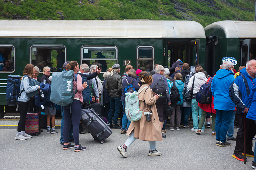
<instances>
[{"instance_id":1,"label":"long cream roof of the left train carriage","mask_svg":"<svg viewBox=\"0 0 256 170\"><path fill-rule=\"evenodd\" d=\"M0 20L0 37L205 38L194 21Z\"/></svg>"}]
</instances>

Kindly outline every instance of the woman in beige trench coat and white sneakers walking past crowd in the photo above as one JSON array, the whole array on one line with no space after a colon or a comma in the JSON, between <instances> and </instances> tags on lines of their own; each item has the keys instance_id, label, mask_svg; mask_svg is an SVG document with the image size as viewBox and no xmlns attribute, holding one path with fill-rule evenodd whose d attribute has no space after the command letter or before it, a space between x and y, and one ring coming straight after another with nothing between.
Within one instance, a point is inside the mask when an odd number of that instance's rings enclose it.
<instances>
[{"instance_id":1,"label":"woman in beige trench coat and white sneakers walking past crowd","mask_svg":"<svg viewBox=\"0 0 256 170\"><path fill-rule=\"evenodd\" d=\"M141 81L143 84L139 89L139 108L143 111L141 119L131 122L127 131L127 135L130 136L123 145L117 147L119 153L124 157L127 157L126 149L137 138L139 140L149 141L149 156L160 156L162 154L160 151L156 150L156 141L162 141L161 125L155 106L155 102L159 98L159 95L155 95L149 86L153 82L153 78L150 73L143 74ZM150 115L151 121L146 121L147 116L144 115L144 112L152 113Z\"/></svg>"}]
</instances>

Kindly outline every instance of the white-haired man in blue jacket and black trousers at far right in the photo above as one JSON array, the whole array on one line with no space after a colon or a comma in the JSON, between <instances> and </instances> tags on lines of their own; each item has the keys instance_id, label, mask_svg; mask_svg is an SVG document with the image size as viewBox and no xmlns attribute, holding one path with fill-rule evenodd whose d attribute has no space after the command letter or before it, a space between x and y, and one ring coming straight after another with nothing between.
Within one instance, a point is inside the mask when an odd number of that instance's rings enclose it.
<instances>
[{"instance_id":1,"label":"white-haired man in blue jacket and black trousers at far right","mask_svg":"<svg viewBox=\"0 0 256 170\"><path fill-rule=\"evenodd\" d=\"M224 68L224 66L222 66L222 68ZM242 75L244 76L245 79L243 78ZM246 68L240 71L240 75L236 77L234 83L231 84L229 90L230 98L236 104L236 110L238 113L237 120L240 124L240 128L236 135L236 145L232 157L240 161L244 161L244 128L246 136L246 156L254 157L254 152L252 151L252 140L256 133L256 124L254 120L247 118L244 120L244 118L246 117L248 110L250 108L250 102L248 99L248 93L250 90L248 89L252 88L253 79L255 78L255 75L256 60L250 60L246 63ZM244 121L246 122L245 125Z\"/></svg>"}]
</instances>

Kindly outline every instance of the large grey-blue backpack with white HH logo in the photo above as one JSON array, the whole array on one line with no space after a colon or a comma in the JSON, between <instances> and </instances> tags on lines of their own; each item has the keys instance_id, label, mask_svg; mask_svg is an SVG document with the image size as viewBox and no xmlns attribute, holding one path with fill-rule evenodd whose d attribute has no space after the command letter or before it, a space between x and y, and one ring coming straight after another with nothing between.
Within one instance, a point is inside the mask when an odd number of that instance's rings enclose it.
<instances>
[{"instance_id":1,"label":"large grey-blue backpack with white HH logo","mask_svg":"<svg viewBox=\"0 0 256 170\"><path fill-rule=\"evenodd\" d=\"M71 104L73 102L74 95L77 93L77 89L74 93L73 81L73 70L54 72L52 74L51 83L51 102L60 106L67 106Z\"/></svg>"}]
</instances>

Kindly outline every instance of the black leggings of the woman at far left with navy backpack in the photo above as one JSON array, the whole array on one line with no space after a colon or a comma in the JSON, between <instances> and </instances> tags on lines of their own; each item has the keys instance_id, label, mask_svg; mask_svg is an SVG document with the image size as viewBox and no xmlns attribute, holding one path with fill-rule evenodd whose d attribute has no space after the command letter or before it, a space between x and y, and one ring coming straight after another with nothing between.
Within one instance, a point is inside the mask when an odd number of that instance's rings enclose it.
<instances>
[{"instance_id":1,"label":"black leggings of the woman at far left with navy backpack","mask_svg":"<svg viewBox=\"0 0 256 170\"><path fill-rule=\"evenodd\" d=\"M20 101L19 110L20 110L20 120L18 123L17 131L22 132L22 131L25 131L25 121L26 121L27 112L29 110L29 102Z\"/></svg>"}]
</instances>

